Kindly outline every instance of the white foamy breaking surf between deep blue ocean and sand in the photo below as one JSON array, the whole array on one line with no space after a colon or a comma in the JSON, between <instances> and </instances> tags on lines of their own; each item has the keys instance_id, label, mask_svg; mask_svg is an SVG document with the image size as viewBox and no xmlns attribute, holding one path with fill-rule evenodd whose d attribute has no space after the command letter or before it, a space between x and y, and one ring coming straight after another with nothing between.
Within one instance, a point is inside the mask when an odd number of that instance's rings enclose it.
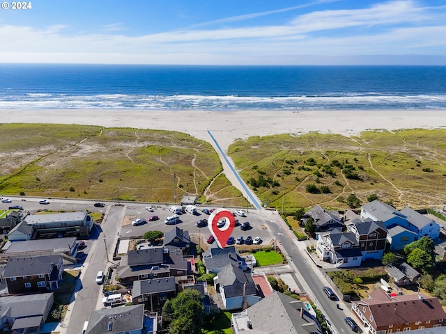
<instances>
[{"instance_id":1,"label":"white foamy breaking surf between deep blue ocean and sand","mask_svg":"<svg viewBox=\"0 0 446 334\"><path fill-rule=\"evenodd\" d=\"M324 94L288 97L236 95L0 95L1 109L169 109L169 110L294 110L294 109L446 109L446 95L378 93Z\"/></svg>"}]
</instances>

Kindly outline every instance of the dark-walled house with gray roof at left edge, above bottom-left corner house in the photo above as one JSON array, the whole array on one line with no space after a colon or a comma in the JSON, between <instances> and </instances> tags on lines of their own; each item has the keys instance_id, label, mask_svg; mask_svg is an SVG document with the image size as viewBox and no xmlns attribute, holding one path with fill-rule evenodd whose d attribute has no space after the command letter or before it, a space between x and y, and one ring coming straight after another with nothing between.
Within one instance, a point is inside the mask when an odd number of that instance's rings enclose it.
<instances>
[{"instance_id":1,"label":"dark-walled house with gray roof at left edge, above bottom-left corner house","mask_svg":"<svg viewBox=\"0 0 446 334\"><path fill-rule=\"evenodd\" d=\"M61 255L10 257L2 277L10 294L33 294L59 289L62 273Z\"/></svg>"}]
</instances>

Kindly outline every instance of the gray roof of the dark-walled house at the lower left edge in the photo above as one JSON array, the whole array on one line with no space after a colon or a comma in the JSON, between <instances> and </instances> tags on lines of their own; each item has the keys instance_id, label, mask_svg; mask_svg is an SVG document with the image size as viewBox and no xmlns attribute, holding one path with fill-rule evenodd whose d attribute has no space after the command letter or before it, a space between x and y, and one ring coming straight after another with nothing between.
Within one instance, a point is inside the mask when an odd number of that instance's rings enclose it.
<instances>
[{"instance_id":1,"label":"gray roof of the dark-walled house at the lower left edge","mask_svg":"<svg viewBox=\"0 0 446 334\"><path fill-rule=\"evenodd\" d=\"M47 274L52 271L52 263L58 264L60 259L61 255L9 258L3 278Z\"/></svg>"}]
</instances>

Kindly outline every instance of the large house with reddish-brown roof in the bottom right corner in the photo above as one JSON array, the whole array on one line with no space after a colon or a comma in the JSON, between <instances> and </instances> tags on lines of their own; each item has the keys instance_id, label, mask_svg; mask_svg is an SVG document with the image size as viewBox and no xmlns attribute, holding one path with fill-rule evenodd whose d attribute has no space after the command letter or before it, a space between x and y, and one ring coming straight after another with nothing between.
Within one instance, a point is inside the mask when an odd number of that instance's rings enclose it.
<instances>
[{"instance_id":1,"label":"large house with reddish-brown roof in the bottom right corner","mask_svg":"<svg viewBox=\"0 0 446 334\"><path fill-rule=\"evenodd\" d=\"M446 312L436 297L422 294L390 296L381 289L369 299L353 301L353 315L371 334L387 334L446 325Z\"/></svg>"}]
</instances>

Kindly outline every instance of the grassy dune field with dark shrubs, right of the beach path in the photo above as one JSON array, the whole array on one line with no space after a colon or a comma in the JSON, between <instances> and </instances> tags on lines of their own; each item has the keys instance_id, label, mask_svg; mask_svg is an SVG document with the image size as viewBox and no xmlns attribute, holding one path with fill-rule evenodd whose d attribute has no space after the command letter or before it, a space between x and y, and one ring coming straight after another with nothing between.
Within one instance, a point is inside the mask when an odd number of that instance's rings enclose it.
<instances>
[{"instance_id":1,"label":"grassy dune field with dark shrubs, right of the beach path","mask_svg":"<svg viewBox=\"0 0 446 334\"><path fill-rule=\"evenodd\" d=\"M360 207L379 198L403 207L443 203L445 129L253 136L228 152L262 202L292 212ZM400 193L402 196L400 197Z\"/></svg>"}]
</instances>

